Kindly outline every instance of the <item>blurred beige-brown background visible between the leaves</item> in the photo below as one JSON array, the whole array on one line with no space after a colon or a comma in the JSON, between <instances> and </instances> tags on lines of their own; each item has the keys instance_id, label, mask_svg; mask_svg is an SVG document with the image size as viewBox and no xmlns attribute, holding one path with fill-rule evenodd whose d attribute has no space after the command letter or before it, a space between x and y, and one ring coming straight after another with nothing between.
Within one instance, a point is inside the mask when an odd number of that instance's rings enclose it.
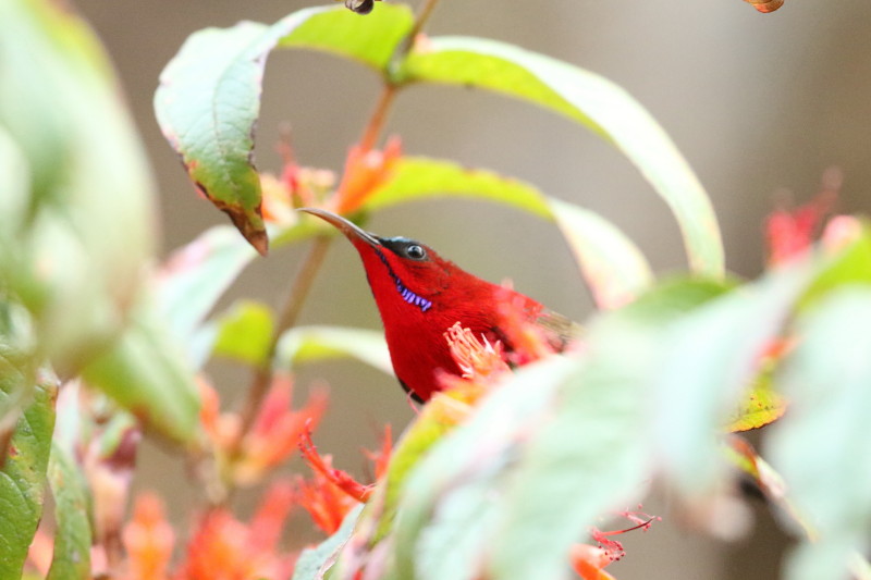
<instances>
[{"instance_id":1,"label":"blurred beige-brown background visible between the leaves","mask_svg":"<svg viewBox=\"0 0 871 580\"><path fill-rule=\"evenodd\" d=\"M162 255L223 214L200 199L154 119L158 75L184 39L206 26L240 20L271 23L314 0L75 0L108 47L144 136L161 195ZM413 3L417 3L413 1ZM377 10L378 7L376 7ZM871 2L787 0L763 15L741 0L602 2L443 0L428 32L514 42L591 70L622 85L658 119L708 189L723 231L728 268L759 273L762 220L775 194L798 201L817 193L824 170L845 175L841 210L871 210ZM280 170L279 126L290 123L298 161L341 171L379 91L368 70L332 57L275 52L266 73L256 161ZM494 95L413 87L388 125L410 155L453 158L538 185L606 215L627 232L661 273L685 268L674 220L635 169L579 125ZM590 300L553 225L515 210L469 201L427 201L373 217L369 229L433 246L481 277L515 287L577 320ZM221 307L240 297L278 307L303 248L258 260ZM379 328L356 252L335 244L300 323ZM226 402L238 400L247 374L210 369ZM390 378L357 363L307 369L300 395L316 381L331 386L319 446L339 467L361 472L360 445L375 448L379 425L401 430L413 417ZM148 447L137 486L162 491L186 514L199 497L177 457ZM297 464L298 467L298 464ZM244 508L243 498L243 508ZM679 527L667 502L646 504L664 516L626 538L627 558L609 568L622 580L769 579L787 542L763 508L752 531L720 542Z\"/></svg>"}]
</instances>

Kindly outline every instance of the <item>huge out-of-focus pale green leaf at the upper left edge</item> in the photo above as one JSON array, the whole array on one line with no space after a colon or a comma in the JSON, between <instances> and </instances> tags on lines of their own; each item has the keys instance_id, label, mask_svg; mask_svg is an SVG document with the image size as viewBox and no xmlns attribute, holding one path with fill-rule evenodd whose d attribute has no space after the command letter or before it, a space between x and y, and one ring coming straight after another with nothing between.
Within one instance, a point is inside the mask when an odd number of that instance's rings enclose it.
<instances>
[{"instance_id":1,"label":"huge out-of-focus pale green leaf at the upper left edge","mask_svg":"<svg viewBox=\"0 0 871 580\"><path fill-rule=\"evenodd\" d=\"M0 212L0 285L33 313L56 370L73 375L123 329L151 254L155 208L111 67L69 9L0 4L0 163L11 166L11 140L14 166L26 165L26 181L19 174L4 188L3 209L19 211Z\"/></svg>"}]
</instances>

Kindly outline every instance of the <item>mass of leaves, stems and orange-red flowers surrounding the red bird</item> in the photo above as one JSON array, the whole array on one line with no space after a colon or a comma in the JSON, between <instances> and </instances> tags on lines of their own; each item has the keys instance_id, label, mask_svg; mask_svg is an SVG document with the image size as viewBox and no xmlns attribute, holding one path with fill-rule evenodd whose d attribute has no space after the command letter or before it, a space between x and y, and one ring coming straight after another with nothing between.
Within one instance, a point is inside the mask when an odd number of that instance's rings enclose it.
<instances>
[{"instance_id":1,"label":"mass of leaves, stems and orange-red flowers surrounding the red bird","mask_svg":"<svg viewBox=\"0 0 871 580\"><path fill-rule=\"evenodd\" d=\"M309 8L272 25L192 35L161 75L157 120L242 236L212 227L158 269L150 176L97 41L48 0L0 3L0 576L20 576L28 560L33 577L70 579L526 579L572 570L606 579L603 568L623 551L592 528L599 517L618 514L646 529L654 518L621 510L651 483L698 508L740 476L800 538L785 578L867 577L868 226L826 220L831 199L783 209L769 221L766 272L727 279L708 196L643 107L543 54L429 38L421 29L434 3L415 15L348 0L371 13ZM341 178L293 162L274 176L252 162L263 67L283 49L328 52L381 77L380 104ZM605 217L532 184L406 155L398 138L378 149L387 108L413 84L520 99L613 145L673 212L687 273L658 280ZM368 454L375 481L363 484L315 447L327 396L312 391L294 408L293 373L336 357L390 373L389 356L372 331L295 325L333 232L294 210L364 222L437 196L552 222L598 310L562 355L510 320L506 332L532 361L520 369L508 368L501 344L444 329L464 377L444 380L395 448L385 432ZM308 240L285 310L240 301L211 314L258 251ZM201 370L214 357L252 372L237 411ZM770 464L735 435L765 425ZM189 534L173 530L151 494L126 516L143 433L195 466L204 502ZM274 476L297 447L312 476ZM256 514L236 516L232 492L265 482ZM54 529L37 530L47 484ZM298 559L282 539L297 507L329 535ZM180 538L185 548L173 560Z\"/></svg>"}]
</instances>

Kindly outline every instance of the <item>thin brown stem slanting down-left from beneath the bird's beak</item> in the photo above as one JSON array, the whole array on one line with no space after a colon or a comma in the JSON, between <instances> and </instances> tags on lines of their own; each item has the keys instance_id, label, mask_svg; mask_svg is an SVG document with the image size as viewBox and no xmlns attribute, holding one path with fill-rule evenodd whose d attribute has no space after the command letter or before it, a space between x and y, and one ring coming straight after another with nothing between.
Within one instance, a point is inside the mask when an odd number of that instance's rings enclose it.
<instances>
[{"instance_id":1,"label":"thin brown stem slanting down-left from beneath the bird's beak","mask_svg":"<svg viewBox=\"0 0 871 580\"><path fill-rule=\"evenodd\" d=\"M242 440L245 439L245 435L254 424L257 411L260 408L260 403L263 400L263 396L266 396L267 391L269 391L269 385L272 383L272 363L275 358L279 341L287 330L296 324L296 319L299 317L308 291L311 289L311 284L320 269L320 264L323 262L323 258L327 256L327 249L330 247L332 237L328 236L316 238L308 250L308 255L299 272L296 274L293 286L291 286L287 301L281 311L275 330L272 332L267 356L263 359L263 363L255 371L252 384L248 387L248 398L245 400L245 407L243 407L240 416L240 432L231 449L231 457L238 452Z\"/></svg>"}]
</instances>

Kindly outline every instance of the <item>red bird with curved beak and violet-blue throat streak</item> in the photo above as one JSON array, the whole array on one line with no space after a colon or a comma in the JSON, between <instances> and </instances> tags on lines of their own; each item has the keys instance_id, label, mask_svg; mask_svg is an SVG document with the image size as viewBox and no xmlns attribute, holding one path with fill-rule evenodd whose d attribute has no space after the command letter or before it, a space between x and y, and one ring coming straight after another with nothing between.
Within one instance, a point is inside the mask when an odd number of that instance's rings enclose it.
<instances>
[{"instance_id":1,"label":"red bird with curved beak and violet-blue throat streak","mask_svg":"<svg viewBox=\"0 0 871 580\"><path fill-rule=\"evenodd\" d=\"M299 211L334 225L357 248L384 324L393 370L418 402L442 388L441 373L461 374L444 337L456 322L491 343L500 341L506 355L514 351L508 333L502 330L500 301L518 309L522 320L543 329L554 350L562 350L575 334L568 319L532 298L461 270L420 242L379 237L327 210Z\"/></svg>"}]
</instances>

